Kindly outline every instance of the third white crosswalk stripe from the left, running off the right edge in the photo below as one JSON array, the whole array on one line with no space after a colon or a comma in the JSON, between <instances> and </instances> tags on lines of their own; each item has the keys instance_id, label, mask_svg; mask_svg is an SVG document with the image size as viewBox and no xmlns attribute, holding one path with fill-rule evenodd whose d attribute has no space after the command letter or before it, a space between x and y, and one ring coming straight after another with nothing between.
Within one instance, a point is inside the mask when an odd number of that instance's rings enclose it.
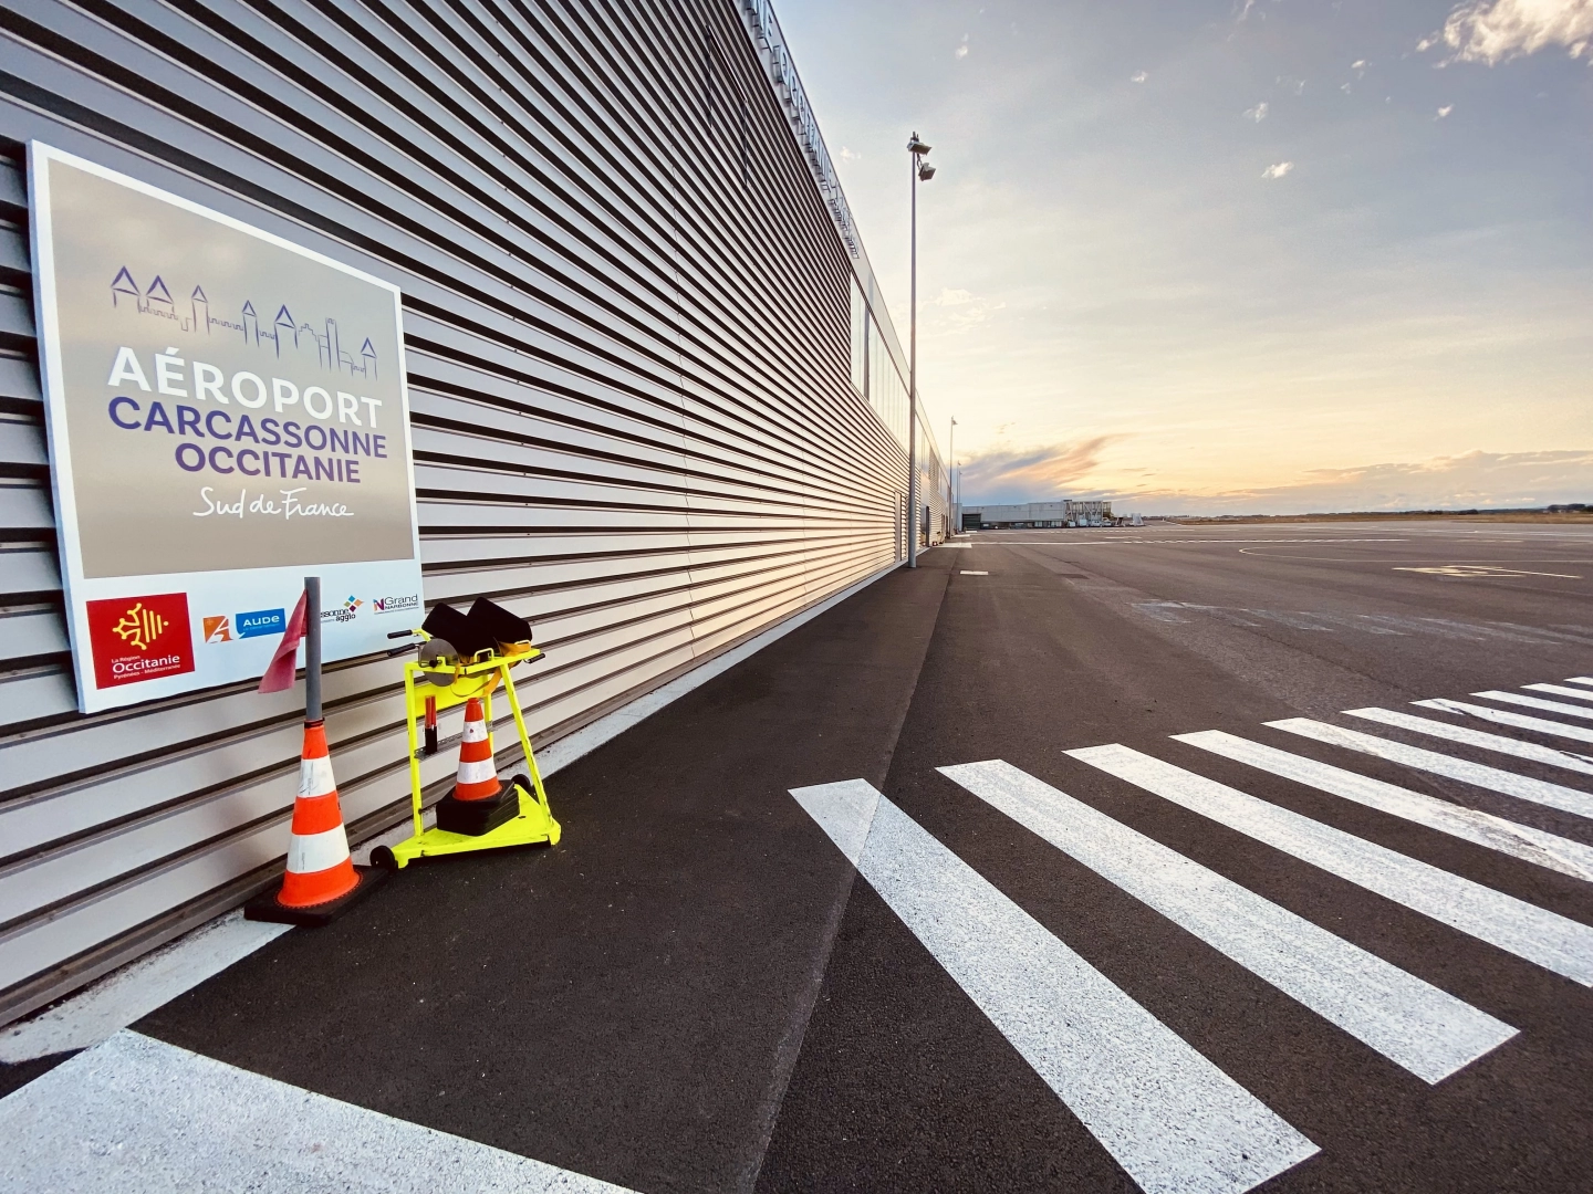
<instances>
[{"instance_id":1,"label":"third white crosswalk stripe from the left, running off the right edge","mask_svg":"<svg viewBox=\"0 0 1593 1194\"><path fill-rule=\"evenodd\" d=\"M1128 747L1069 750L1219 825L1593 987L1593 928Z\"/></svg>"}]
</instances>

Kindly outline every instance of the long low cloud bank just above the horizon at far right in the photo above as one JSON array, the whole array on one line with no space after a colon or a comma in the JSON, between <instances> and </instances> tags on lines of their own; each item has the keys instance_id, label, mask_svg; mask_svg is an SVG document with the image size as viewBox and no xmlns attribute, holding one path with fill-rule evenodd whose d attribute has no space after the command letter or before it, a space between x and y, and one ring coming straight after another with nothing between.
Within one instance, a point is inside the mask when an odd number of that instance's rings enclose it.
<instances>
[{"instance_id":1,"label":"long low cloud bank just above the horizon at far right","mask_svg":"<svg viewBox=\"0 0 1593 1194\"><path fill-rule=\"evenodd\" d=\"M1150 513L1325 514L1352 509L1502 509L1593 500L1593 449L1462 452L1413 463L1316 468L1284 486L1190 494L1142 489L1114 500Z\"/></svg>"}]
</instances>

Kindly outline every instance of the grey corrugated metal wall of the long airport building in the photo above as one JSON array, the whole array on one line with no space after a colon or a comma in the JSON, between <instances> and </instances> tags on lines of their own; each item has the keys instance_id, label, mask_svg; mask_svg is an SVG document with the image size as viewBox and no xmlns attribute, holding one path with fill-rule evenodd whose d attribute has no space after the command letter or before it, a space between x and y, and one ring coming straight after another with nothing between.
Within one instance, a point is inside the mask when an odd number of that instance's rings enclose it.
<instances>
[{"instance_id":1,"label":"grey corrugated metal wall of the long airport building","mask_svg":"<svg viewBox=\"0 0 1593 1194\"><path fill-rule=\"evenodd\" d=\"M736 0L0 2L0 1022L269 882L299 748L249 685L75 712L25 142L403 288L427 602L535 621L546 742L905 551L849 382L867 258L757 33ZM327 712L349 821L393 820L398 662L330 669Z\"/></svg>"}]
</instances>

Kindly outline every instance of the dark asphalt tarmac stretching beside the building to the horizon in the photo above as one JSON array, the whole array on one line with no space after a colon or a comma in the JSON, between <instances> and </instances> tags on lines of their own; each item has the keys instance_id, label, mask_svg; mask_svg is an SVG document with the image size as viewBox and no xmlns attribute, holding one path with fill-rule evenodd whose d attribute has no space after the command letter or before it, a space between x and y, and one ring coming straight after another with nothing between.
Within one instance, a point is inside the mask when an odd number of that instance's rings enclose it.
<instances>
[{"instance_id":1,"label":"dark asphalt tarmac stretching beside the building to the horizon","mask_svg":"<svg viewBox=\"0 0 1593 1194\"><path fill-rule=\"evenodd\" d=\"M1593 673L1593 529L1152 525L962 543L559 772L556 849L413 866L336 925L277 939L134 1027L648 1194L1593 1189L1593 970L1575 977L1593 966L1577 936L1593 925L1593 884L1536 847L1499 845L1499 821L1466 828L1491 814L1593 847L1587 815L1544 802L1574 806L1593 771L1542 750L1593 747L1411 705L1458 699L1593 729L1469 696L1579 707L1523 686ZM1344 715L1364 707L1539 756ZM1263 724L1284 718L1423 747L1451 772L1459 761L1544 783L1489 790L1481 772L1461 780ZM1287 751L1313 775L1329 764L1399 785L1429 821L1171 737L1200 731ZM1244 815L1292 810L1309 818L1292 825L1352 834L1381 860L1375 876L1306 861L1088 755L1114 743L1258 798ZM1309 922L1301 933L1317 936L1298 936L1284 965L1332 935L1343 955L1499 1032L1453 1073L1421 1076L1352 1027L1388 998L1311 987L1321 974L1286 993L1190 928L1215 895L1155 911L1126 890L1139 872L1109 877L937 771L991 759L1206 868L1207 895L1231 880L1271 915ZM847 780L883 794L870 877L790 794ZM1472 820L1440 831L1421 798ZM916 855L883 853L887 804L927 831ZM1427 887L1373 892L1415 866L1386 850L1424 863ZM1459 880L1526 912L1489 942L1466 920L1470 896L1450 901L1453 915L1443 903ZM1432 892L1438 904L1413 906ZM1532 915L1569 942L1563 963L1520 944ZM1023 989L1040 963L991 949L1004 925L1066 954L1072 979L1059 982L1104 985L1064 987L1077 1001ZM1338 995L1360 1005L1324 1011ZM1131 1065L1118 1022L1101 1019L1114 1008L1155 1030ZM1163 1063L1174 1078L1157 1086ZM1168 1129L1200 1065L1257 1108L1243 1132ZM1125 1106L1131 1122L1114 1134ZM1228 1176L1190 1176L1225 1148L1211 1172Z\"/></svg>"}]
</instances>

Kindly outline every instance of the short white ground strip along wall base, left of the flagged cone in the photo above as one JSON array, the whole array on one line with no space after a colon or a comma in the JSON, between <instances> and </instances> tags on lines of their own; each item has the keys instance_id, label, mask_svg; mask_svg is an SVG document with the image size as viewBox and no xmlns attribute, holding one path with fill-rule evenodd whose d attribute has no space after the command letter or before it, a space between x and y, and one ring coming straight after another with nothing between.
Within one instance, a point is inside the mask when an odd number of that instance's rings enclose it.
<instances>
[{"instance_id":1,"label":"short white ground strip along wall base, left of the flagged cone","mask_svg":"<svg viewBox=\"0 0 1593 1194\"><path fill-rule=\"evenodd\" d=\"M0 1032L0 1062L14 1065L99 1044L118 1028L143 1019L268 941L276 941L288 928L292 925L244 920L241 911L210 920L169 946L113 970L48 1011Z\"/></svg>"}]
</instances>

